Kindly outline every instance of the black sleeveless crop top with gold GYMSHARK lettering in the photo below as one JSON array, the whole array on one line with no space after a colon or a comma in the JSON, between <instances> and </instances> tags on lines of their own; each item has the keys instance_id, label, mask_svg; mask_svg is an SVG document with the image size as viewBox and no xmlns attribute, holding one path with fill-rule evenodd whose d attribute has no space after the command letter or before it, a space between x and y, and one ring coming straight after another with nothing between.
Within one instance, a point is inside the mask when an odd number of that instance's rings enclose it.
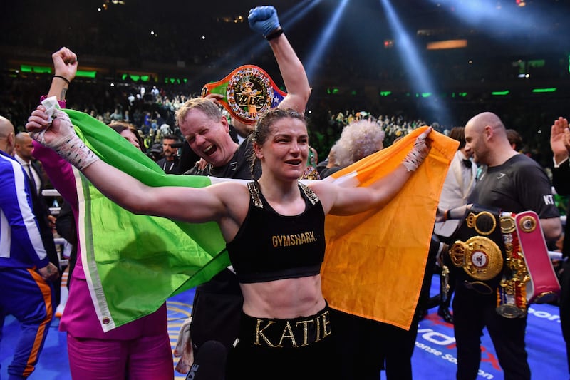
<instances>
[{"instance_id":1,"label":"black sleeveless crop top with gold GYMSHARK lettering","mask_svg":"<svg viewBox=\"0 0 570 380\"><path fill-rule=\"evenodd\" d=\"M325 214L313 190L299 183L305 200L300 215L279 215L265 200L259 183L247 184L247 216L232 242L229 260L241 283L314 276L325 255Z\"/></svg>"}]
</instances>

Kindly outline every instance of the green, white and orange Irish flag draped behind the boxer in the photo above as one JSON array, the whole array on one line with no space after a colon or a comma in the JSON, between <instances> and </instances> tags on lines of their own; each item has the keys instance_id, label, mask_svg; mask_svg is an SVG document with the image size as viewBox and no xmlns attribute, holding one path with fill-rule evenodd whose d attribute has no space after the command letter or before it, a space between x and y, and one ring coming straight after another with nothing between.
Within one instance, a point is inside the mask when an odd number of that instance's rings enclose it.
<instances>
[{"instance_id":1,"label":"green, white and orange Irish flag draped behind the boxer","mask_svg":"<svg viewBox=\"0 0 570 380\"><path fill-rule=\"evenodd\" d=\"M166 175L108 126L85 113L63 111L101 159L147 185L199 188L226 180ZM424 129L327 180L343 186L372 183L402 162ZM430 155L389 205L351 217L326 217L322 277L331 307L410 327L437 202L457 149L457 141L445 135L430 136ZM206 282L230 264L217 224L134 215L101 195L83 176L79 179L83 267L104 331L154 312L172 295Z\"/></svg>"}]
</instances>

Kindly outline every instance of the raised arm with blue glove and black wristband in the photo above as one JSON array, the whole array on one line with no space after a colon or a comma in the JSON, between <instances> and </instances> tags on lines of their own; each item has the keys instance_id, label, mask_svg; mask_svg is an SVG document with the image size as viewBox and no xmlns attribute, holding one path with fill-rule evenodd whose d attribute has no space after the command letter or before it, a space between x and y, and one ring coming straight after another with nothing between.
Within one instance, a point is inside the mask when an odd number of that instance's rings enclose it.
<instances>
[{"instance_id":1,"label":"raised arm with blue glove and black wristband","mask_svg":"<svg viewBox=\"0 0 570 380\"><path fill-rule=\"evenodd\" d=\"M257 6L249 11L247 19L250 28L261 33L269 41L279 65L287 92L279 108L293 108L304 114L311 95L311 87L303 63L281 29L276 9L273 6Z\"/></svg>"}]
</instances>

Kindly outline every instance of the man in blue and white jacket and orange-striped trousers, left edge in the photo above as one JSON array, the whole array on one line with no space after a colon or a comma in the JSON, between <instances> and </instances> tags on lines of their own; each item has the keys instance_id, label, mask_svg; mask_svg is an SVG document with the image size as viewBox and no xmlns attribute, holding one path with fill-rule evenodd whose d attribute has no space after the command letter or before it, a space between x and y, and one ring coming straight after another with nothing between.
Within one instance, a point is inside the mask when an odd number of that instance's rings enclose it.
<instances>
[{"instance_id":1,"label":"man in blue and white jacket and orange-striped trousers, left edge","mask_svg":"<svg viewBox=\"0 0 570 380\"><path fill-rule=\"evenodd\" d=\"M0 329L8 314L20 322L8 374L10 379L26 379L35 369L49 331L51 281L57 279L58 268L49 262L43 247L26 173L10 155L14 140L14 125L0 116Z\"/></svg>"}]
</instances>

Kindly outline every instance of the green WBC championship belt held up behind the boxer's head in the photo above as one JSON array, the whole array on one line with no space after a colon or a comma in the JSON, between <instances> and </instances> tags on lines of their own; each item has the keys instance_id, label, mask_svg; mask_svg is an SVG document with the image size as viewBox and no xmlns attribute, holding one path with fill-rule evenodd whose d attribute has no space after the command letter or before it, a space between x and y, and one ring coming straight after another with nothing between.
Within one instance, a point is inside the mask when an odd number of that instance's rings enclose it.
<instances>
[{"instance_id":1,"label":"green WBC championship belt held up behind the boxer's head","mask_svg":"<svg viewBox=\"0 0 570 380\"><path fill-rule=\"evenodd\" d=\"M255 124L259 115L278 106L287 96L264 69L253 65L239 66L221 81L205 84L202 96L209 93L223 95L219 100L222 106L246 124Z\"/></svg>"}]
</instances>

